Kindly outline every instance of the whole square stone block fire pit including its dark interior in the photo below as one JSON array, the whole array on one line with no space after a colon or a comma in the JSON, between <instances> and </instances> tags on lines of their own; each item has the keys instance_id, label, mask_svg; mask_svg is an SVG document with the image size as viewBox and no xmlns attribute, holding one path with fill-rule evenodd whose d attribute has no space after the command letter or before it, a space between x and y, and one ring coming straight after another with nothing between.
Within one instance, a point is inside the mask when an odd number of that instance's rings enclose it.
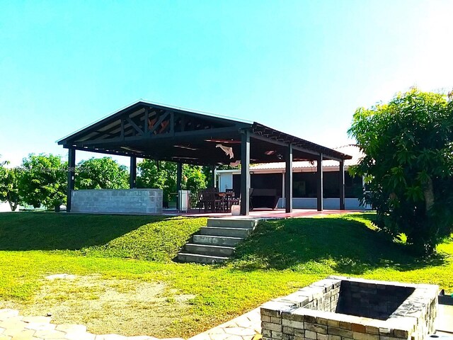
<instances>
[{"instance_id":1,"label":"whole square stone block fire pit including its dark interior","mask_svg":"<svg viewBox=\"0 0 453 340\"><path fill-rule=\"evenodd\" d=\"M423 340L437 285L329 276L261 306L265 340Z\"/></svg>"}]
</instances>

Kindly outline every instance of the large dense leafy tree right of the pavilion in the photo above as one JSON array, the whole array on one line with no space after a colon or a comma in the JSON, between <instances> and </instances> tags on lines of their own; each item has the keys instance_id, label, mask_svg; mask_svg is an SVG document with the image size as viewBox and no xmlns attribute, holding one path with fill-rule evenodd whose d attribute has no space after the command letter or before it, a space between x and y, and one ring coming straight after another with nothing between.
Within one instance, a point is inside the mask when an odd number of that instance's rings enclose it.
<instances>
[{"instance_id":1,"label":"large dense leafy tree right of the pavilion","mask_svg":"<svg viewBox=\"0 0 453 340\"><path fill-rule=\"evenodd\" d=\"M430 254L452 232L453 102L411 89L389 103L359 108L348 131L365 157L352 173L365 176L377 226L404 233Z\"/></svg>"}]
</instances>

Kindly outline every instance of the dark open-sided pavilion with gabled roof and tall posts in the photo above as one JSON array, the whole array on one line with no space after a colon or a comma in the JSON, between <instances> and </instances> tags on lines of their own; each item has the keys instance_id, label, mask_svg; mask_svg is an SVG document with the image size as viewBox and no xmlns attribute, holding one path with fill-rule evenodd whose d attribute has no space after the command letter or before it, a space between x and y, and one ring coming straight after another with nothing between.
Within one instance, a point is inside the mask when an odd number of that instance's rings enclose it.
<instances>
[{"instance_id":1,"label":"dark open-sided pavilion with gabled roof and tall posts","mask_svg":"<svg viewBox=\"0 0 453 340\"><path fill-rule=\"evenodd\" d=\"M67 211L71 211L76 150L130 157L130 188L135 188L137 157L178 164L241 164L241 215L249 212L249 164L285 162L285 208L292 212L292 162L316 161L317 208L323 210L323 159L340 164L340 210L345 209L344 161L351 157L256 122L222 118L139 101L64 137L69 149ZM214 171L212 171L214 174Z\"/></svg>"}]
</instances>

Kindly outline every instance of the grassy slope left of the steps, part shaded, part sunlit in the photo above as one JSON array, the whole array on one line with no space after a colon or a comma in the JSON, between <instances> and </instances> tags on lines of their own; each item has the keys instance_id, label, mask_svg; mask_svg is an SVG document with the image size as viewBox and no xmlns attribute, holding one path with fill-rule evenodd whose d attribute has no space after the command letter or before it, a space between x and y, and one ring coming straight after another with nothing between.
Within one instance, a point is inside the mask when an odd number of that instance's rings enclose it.
<instances>
[{"instance_id":1,"label":"grassy slope left of the steps, part shaded, part sunlit","mask_svg":"<svg viewBox=\"0 0 453 340\"><path fill-rule=\"evenodd\" d=\"M71 251L170 261L190 234L205 224L203 218L4 213L0 215L0 251Z\"/></svg>"}]
</instances>

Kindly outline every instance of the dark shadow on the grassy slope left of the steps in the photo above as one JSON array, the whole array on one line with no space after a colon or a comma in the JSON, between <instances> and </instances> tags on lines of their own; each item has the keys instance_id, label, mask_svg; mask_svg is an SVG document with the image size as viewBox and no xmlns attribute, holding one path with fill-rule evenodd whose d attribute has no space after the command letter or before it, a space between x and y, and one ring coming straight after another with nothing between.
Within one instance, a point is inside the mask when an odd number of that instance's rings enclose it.
<instances>
[{"instance_id":1,"label":"dark shadow on the grassy slope left of the steps","mask_svg":"<svg viewBox=\"0 0 453 340\"><path fill-rule=\"evenodd\" d=\"M107 244L167 216L81 215L55 212L0 214L0 250L79 250Z\"/></svg>"}]
</instances>

